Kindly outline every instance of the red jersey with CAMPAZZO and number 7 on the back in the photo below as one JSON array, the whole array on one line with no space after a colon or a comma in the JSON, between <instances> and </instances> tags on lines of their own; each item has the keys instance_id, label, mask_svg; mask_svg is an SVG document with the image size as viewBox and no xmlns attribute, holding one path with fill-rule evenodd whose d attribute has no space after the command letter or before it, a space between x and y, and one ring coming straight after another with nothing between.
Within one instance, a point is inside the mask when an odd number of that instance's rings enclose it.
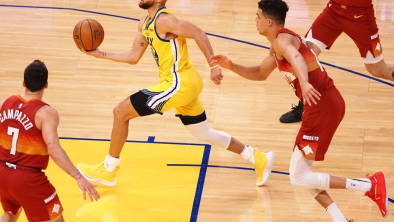
<instances>
[{"instance_id":1,"label":"red jersey with CAMPAZZO and number 7 on the back","mask_svg":"<svg viewBox=\"0 0 394 222\"><path fill-rule=\"evenodd\" d=\"M0 109L0 160L45 169L49 155L41 130L35 126L38 108L47 105L39 99L8 97Z\"/></svg>"}]
</instances>

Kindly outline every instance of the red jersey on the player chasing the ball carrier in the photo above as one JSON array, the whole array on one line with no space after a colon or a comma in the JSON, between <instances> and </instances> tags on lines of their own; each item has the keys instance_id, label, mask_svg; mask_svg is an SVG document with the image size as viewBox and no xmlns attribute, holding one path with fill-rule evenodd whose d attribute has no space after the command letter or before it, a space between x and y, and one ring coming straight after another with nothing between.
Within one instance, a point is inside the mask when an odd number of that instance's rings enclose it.
<instances>
[{"instance_id":1,"label":"red jersey on the player chasing the ball carrier","mask_svg":"<svg viewBox=\"0 0 394 222\"><path fill-rule=\"evenodd\" d=\"M319 92L330 88L333 85L333 80L327 75L327 72L323 66L321 66L316 54L313 52L313 49L305 42L305 40L287 28L279 28L279 30L276 32L276 37L279 33L289 33L295 35L301 42L298 51L302 54L306 65L308 66L308 82L313 86L313 88ZM294 90L295 95L302 100L301 87L291 63L285 58L279 59L276 56L275 49L273 49L273 55L275 57L277 67L282 73L285 74L284 78Z\"/></svg>"}]
</instances>

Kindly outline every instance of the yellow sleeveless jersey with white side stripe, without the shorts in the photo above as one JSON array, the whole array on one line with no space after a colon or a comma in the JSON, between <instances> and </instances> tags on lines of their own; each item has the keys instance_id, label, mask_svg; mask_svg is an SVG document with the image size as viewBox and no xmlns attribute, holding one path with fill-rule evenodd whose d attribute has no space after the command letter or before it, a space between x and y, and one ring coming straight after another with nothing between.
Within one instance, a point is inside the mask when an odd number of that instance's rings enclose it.
<instances>
[{"instance_id":1,"label":"yellow sleeveless jersey with white side stripe, without the shorts","mask_svg":"<svg viewBox=\"0 0 394 222\"><path fill-rule=\"evenodd\" d=\"M172 14L165 6L157 9L153 18L146 16L142 26L142 34L150 45L152 55L158 66L160 77L172 78L172 73L176 73L184 68L189 68L191 62L188 59L186 38L177 36L174 39L163 39L156 32L156 19L162 14Z\"/></svg>"}]
</instances>

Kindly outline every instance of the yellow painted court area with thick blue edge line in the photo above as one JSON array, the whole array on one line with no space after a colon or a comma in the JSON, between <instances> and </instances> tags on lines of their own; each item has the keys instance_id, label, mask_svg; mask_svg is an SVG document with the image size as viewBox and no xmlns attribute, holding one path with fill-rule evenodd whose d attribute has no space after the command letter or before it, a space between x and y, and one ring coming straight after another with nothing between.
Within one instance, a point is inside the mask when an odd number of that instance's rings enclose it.
<instances>
[{"instance_id":1,"label":"yellow painted court area with thick blue edge line","mask_svg":"<svg viewBox=\"0 0 394 222\"><path fill-rule=\"evenodd\" d=\"M67 221L188 221L196 217L205 179L209 145L128 141L123 147L121 170L113 187L98 185L98 202L77 201L81 193L75 181L54 163L49 178L59 193ZM105 140L61 139L71 159L95 164ZM91 156L86 156L91 153ZM87 157L87 158L86 158ZM131 158L128 158L131 157ZM89 159L88 162L86 160ZM72 183L72 184L71 184ZM61 194L60 194L61 193ZM101 201L102 200L102 201Z\"/></svg>"}]
</instances>

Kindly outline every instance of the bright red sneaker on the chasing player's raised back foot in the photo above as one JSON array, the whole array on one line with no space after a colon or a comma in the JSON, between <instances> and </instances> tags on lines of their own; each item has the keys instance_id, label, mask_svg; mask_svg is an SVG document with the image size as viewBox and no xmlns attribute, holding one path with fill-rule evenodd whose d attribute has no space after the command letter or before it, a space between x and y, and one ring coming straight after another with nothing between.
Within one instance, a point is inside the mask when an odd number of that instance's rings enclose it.
<instances>
[{"instance_id":1,"label":"bright red sneaker on the chasing player's raised back foot","mask_svg":"<svg viewBox=\"0 0 394 222\"><path fill-rule=\"evenodd\" d=\"M388 215L388 196L387 196L387 184L384 172L378 171L373 175L366 175L367 178L372 182L372 186L369 191L365 192L369 198L371 198L377 206L379 206L381 215L387 217Z\"/></svg>"}]
</instances>

